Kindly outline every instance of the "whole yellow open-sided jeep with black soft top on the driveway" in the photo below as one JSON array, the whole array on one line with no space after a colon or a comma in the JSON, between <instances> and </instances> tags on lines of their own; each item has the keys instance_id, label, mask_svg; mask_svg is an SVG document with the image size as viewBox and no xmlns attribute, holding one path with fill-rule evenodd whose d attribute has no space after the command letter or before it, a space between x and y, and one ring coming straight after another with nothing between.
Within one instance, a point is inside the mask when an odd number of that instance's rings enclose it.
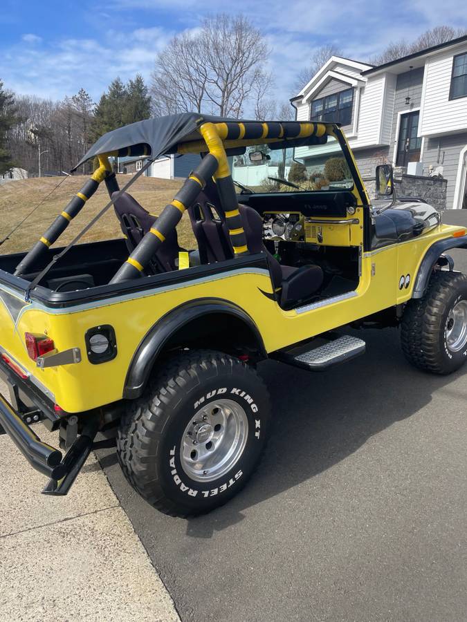
<instances>
[{"instance_id":1,"label":"whole yellow open-sided jeep with black soft top on the driveway","mask_svg":"<svg viewBox=\"0 0 467 622\"><path fill-rule=\"evenodd\" d=\"M235 183L233 158L236 171L255 172L275 149L315 162L306 187ZM141 156L143 173L185 153L199 164L157 218L126 192L138 174L120 190L109 162ZM388 165L376 169L381 200L370 205L338 124L187 113L111 131L77 166L90 159L93 176L33 249L0 256L10 388L0 424L48 478L44 493L66 494L107 435L154 507L190 516L223 504L268 433L257 363L316 372L348 361L365 350L349 325L400 326L406 357L432 373L466 361L467 279L445 254L467 248L466 231L423 200L395 200ZM100 215L113 206L125 238L52 247L101 182L110 201ZM193 251L177 242L185 211ZM33 431L39 420L64 455Z\"/></svg>"}]
</instances>

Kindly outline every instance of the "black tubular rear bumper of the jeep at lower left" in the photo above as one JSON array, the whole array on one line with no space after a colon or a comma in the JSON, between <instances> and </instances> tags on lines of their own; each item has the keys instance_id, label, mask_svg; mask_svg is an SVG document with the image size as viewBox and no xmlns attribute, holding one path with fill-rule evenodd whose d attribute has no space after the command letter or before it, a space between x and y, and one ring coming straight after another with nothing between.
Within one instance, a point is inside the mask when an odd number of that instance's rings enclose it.
<instances>
[{"instance_id":1,"label":"black tubular rear bumper of the jeep at lower left","mask_svg":"<svg viewBox=\"0 0 467 622\"><path fill-rule=\"evenodd\" d=\"M43 443L1 395L0 425L15 442L29 464L37 471L53 480L61 480L64 477L65 467L62 464L62 452Z\"/></svg>"}]
</instances>

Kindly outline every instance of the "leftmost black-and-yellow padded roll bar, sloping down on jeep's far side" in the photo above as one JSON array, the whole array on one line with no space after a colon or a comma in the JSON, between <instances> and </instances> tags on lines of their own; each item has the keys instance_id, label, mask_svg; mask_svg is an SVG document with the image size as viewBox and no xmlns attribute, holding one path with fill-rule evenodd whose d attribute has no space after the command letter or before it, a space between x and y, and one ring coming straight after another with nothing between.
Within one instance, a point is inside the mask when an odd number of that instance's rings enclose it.
<instances>
[{"instance_id":1,"label":"leftmost black-and-yellow padded roll bar, sloping down on jeep's far side","mask_svg":"<svg viewBox=\"0 0 467 622\"><path fill-rule=\"evenodd\" d=\"M98 156L99 167L95 169L91 175L91 179L87 180L82 189L73 196L71 201L65 207L57 218L53 221L47 231L39 238L39 241L35 243L32 249L24 257L24 259L17 265L15 275L26 274L37 261L46 253L47 249L62 235L66 227L71 223L71 220L80 213L87 200L93 196L98 189L100 182L112 176L113 171L107 156Z\"/></svg>"}]
</instances>

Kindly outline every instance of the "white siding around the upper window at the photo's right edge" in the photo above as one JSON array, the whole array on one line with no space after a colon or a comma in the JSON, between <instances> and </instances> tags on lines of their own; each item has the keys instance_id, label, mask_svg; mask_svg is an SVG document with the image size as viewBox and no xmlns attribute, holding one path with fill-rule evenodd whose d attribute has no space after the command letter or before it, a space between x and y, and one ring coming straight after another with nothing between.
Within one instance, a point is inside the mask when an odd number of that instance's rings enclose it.
<instances>
[{"instance_id":1,"label":"white siding around the upper window at the photo's right edge","mask_svg":"<svg viewBox=\"0 0 467 622\"><path fill-rule=\"evenodd\" d=\"M456 55L467 52L456 50ZM419 136L453 133L467 129L467 99L449 100L452 73L452 50L428 58L421 100Z\"/></svg>"}]
</instances>

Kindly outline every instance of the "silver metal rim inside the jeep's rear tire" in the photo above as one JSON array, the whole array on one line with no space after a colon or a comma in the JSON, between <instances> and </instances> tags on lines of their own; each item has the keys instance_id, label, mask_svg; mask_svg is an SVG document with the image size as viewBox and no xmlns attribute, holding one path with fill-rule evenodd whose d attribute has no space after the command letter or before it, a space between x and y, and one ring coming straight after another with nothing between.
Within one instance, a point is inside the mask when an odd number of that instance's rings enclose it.
<instances>
[{"instance_id":1,"label":"silver metal rim inside the jeep's rear tire","mask_svg":"<svg viewBox=\"0 0 467 622\"><path fill-rule=\"evenodd\" d=\"M200 408L183 432L180 461L196 482L221 478L239 461L248 437L248 419L232 399Z\"/></svg>"}]
</instances>

